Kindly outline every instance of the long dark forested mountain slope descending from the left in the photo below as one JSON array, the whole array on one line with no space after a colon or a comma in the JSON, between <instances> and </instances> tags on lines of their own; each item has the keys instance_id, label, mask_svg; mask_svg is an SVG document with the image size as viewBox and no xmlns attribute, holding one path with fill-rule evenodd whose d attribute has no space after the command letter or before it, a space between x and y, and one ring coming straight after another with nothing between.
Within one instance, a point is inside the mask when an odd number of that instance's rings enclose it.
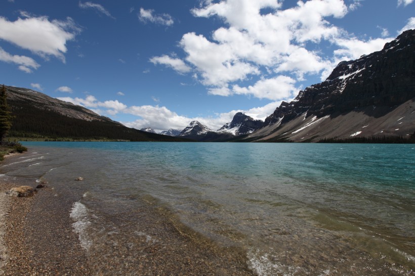
<instances>
[{"instance_id":1,"label":"long dark forested mountain slope descending from the left","mask_svg":"<svg viewBox=\"0 0 415 276\"><path fill-rule=\"evenodd\" d=\"M5 86L15 116L10 137L40 140L187 141L129 128L72 103L27 88Z\"/></svg>"}]
</instances>

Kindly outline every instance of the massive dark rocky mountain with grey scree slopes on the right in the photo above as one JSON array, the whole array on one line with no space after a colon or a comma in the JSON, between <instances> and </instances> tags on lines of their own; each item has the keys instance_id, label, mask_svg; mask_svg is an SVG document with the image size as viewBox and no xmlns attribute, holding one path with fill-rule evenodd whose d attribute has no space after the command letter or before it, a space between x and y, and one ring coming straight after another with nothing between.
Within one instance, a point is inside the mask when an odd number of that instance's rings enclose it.
<instances>
[{"instance_id":1,"label":"massive dark rocky mountain with grey scree slopes on the right","mask_svg":"<svg viewBox=\"0 0 415 276\"><path fill-rule=\"evenodd\" d=\"M282 102L244 141L318 142L415 136L415 30L383 50L343 61Z\"/></svg>"}]
</instances>

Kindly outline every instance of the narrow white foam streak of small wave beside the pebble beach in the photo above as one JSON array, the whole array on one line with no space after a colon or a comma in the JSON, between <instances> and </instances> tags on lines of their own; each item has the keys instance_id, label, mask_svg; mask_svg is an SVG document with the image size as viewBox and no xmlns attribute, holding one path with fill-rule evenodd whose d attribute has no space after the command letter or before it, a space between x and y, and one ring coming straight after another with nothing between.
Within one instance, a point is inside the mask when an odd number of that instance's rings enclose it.
<instances>
[{"instance_id":1,"label":"narrow white foam streak of small wave beside the pebble beach","mask_svg":"<svg viewBox=\"0 0 415 276\"><path fill-rule=\"evenodd\" d=\"M75 202L69 216L75 220L75 222L72 224L72 227L79 236L79 241L82 248L88 250L92 245L92 241L89 239L87 234L87 228L91 224L91 222L88 220L87 207L79 201Z\"/></svg>"}]
</instances>

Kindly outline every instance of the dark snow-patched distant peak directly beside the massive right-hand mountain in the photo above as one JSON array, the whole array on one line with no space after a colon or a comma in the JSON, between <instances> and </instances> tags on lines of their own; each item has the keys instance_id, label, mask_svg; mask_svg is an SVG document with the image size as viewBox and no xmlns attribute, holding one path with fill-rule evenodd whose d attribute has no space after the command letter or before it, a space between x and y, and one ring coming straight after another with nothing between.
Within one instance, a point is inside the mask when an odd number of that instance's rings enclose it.
<instances>
[{"instance_id":1,"label":"dark snow-patched distant peak directly beside the massive right-hand mountain","mask_svg":"<svg viewBox=\"0 0 415 276\"><path fill-rule=\"evenodd\" d=\"M241 112L238 112L233 116L233 119L230 123L225 124L220 129L219 132L229 132L235 136L249 134L259 129L263 125L263 121L255 120L250 116L247 116Z\"/></svg>"}]
</instances>

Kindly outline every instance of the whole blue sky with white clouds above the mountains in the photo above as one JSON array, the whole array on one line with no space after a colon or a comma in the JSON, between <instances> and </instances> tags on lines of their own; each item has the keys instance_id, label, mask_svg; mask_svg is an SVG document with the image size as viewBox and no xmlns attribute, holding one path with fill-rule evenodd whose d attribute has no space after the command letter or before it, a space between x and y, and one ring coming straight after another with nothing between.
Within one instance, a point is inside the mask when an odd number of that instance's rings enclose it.
<instances>
[{"instance_id":1,"label":"whole blue sky with white clouds above the mountains","mask_svg":"<svg viewBox=\"0 0 415 276\"><path fill-rule=\"evenodd\" d=\"M137 129L264 120L415 29L415 0L0 0L0 83Z\"/></svg>"}]
</instances>

